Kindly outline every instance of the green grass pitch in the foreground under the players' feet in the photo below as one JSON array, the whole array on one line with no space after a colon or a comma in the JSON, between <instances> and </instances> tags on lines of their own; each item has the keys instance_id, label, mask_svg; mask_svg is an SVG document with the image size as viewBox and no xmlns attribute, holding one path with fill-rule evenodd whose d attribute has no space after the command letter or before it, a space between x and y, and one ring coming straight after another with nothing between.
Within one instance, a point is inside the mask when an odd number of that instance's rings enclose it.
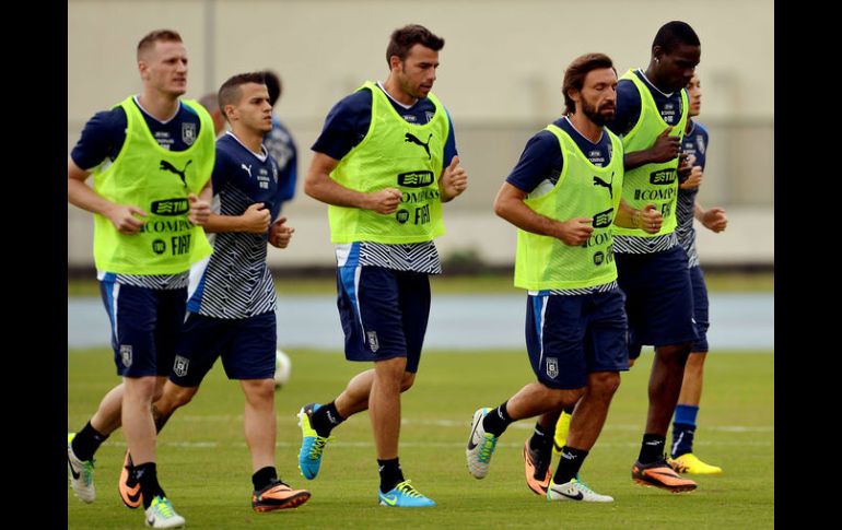
<instances>
[{"instance_id":1,"label":"green grass pitch in the foreground under the players' feet","mask_svg":"<svg viewBox=\"0 0 842 530\"><path fill-rule=\"evenodd\" d=\"M774 356L771 352L709 356L695 449L722 466L720 476L695 478L699 488L670 495L632 483L646 414L652 354L623 375L606 427L583 468L584 479L610 494L610 505L547 503L524 483L521 448L531 421L513 424L498 445L489 475L477 481L465 466L472 412L496 405L534 378L522 352L428 352L416 387L402 399L401 464L407 478L438 506L397 510L376 503L377 470L367 414L335 431L317 480L296 469L295 412L336 396L365 365L339 353L293 350L292 380L276 397L277 463L281 476L313 498L289 511L250 509L250 460L243 438L243 397L217 363L192 403L159 438L159 476L188 528L773 528ZM116 382L108 350L68 352L68 431L90 419ZM68 487L68 528L140 528L143 515L122 506L116 481L121 431L97 454L98 497L92 505ZM554 466L553 466L554 469Z\"/></svg>"}]
</instances>

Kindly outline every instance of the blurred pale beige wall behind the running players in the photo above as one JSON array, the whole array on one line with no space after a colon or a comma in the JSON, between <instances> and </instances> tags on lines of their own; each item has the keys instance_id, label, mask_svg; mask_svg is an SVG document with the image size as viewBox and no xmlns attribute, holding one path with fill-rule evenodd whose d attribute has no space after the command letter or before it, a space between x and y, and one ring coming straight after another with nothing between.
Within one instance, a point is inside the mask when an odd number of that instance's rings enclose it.
<instances>
[{"instance_id":1,"label":"blurred pale beige wall behind the running players","mask_svg":"<svg viewBox=\"0 0 842 530\"><path fill-rule=\"evenodd\" d=\"M335 264L326 207L301 192L309 146L331 106L385 80L393 30L420 23L444 37L434 92L454 121L469 189L445 208L445 273L511 271L515 229L491 209L526 140L563 108L570 61L608 54L645 68L670 20L702 42L700 121L711 144L699 201L727 210L728 229L699 231L706 270L773 271L774 2L772 0L69 0L68 153L96 111L141 89L135 50L149 31L178 31L190 58L187 97L270 68L283 80L276 113L299 146L299 190L284 207L296 233L270 251L283 275ZM92 216L68 207L68 273L93 278ZM511 278L511 276L510 276Z\"/></svg>"}]
</instances>

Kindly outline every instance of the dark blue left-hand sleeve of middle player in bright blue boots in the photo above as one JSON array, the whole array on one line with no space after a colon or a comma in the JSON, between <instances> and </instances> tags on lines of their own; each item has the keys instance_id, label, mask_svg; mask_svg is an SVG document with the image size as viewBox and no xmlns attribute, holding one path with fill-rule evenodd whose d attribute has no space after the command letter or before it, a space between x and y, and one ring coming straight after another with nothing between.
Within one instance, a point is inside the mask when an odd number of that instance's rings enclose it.
<instances>
[{"instance_id":1,"label":"dark blue left-hand sleeve of middle player in bright blue boots","mask_svg":"<svg viewBox=\"0 0 842 530\"><path fill-rule=\"evenodd\" d=\"M341 160L365 138L371 122L372 93L369 90L356 91L330 109L325 127L311 149Z\"/></svg>"}]
</instances>

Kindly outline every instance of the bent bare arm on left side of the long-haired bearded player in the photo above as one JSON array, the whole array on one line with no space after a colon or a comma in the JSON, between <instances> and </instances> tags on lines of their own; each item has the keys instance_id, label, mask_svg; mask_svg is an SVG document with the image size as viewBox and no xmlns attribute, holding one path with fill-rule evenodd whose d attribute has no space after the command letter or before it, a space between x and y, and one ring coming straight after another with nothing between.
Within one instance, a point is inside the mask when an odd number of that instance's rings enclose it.
<instances>
[{"instance_id":1,"label":"bent bare arm on left side of the long-haired bearded player","mask_svg":"<svg viewBox=\"0 0 842 530\"><path fill-rule=\"evenodd\" d=\"M554 237L571 246L587 242L594 232L592 217L573 217L557 221L537 213L524 200L526 191L503 182L494 199L494 213L526 232Z\"/></svg>"}]
</instances>

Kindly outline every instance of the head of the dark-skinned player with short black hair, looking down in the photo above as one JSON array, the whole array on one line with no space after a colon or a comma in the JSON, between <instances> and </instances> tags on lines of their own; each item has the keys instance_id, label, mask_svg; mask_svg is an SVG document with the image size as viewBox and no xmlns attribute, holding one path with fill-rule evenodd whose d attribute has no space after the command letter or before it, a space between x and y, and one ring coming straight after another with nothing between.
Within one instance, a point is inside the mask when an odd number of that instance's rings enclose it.
<instances>
[{"instance_id":1,"label":"head of the dark-skinned player with short black hair, looking down","mask_svg":"<svg viewBox=\"0 0 842 530\"><path fill-rule=\"evenodd\" d=\"M702 55L699 36L690 24L667 22L652 42L652 62L655 73L651 80L664 92L676 92L687 86Z\"/></svg>"}]
</instances>

